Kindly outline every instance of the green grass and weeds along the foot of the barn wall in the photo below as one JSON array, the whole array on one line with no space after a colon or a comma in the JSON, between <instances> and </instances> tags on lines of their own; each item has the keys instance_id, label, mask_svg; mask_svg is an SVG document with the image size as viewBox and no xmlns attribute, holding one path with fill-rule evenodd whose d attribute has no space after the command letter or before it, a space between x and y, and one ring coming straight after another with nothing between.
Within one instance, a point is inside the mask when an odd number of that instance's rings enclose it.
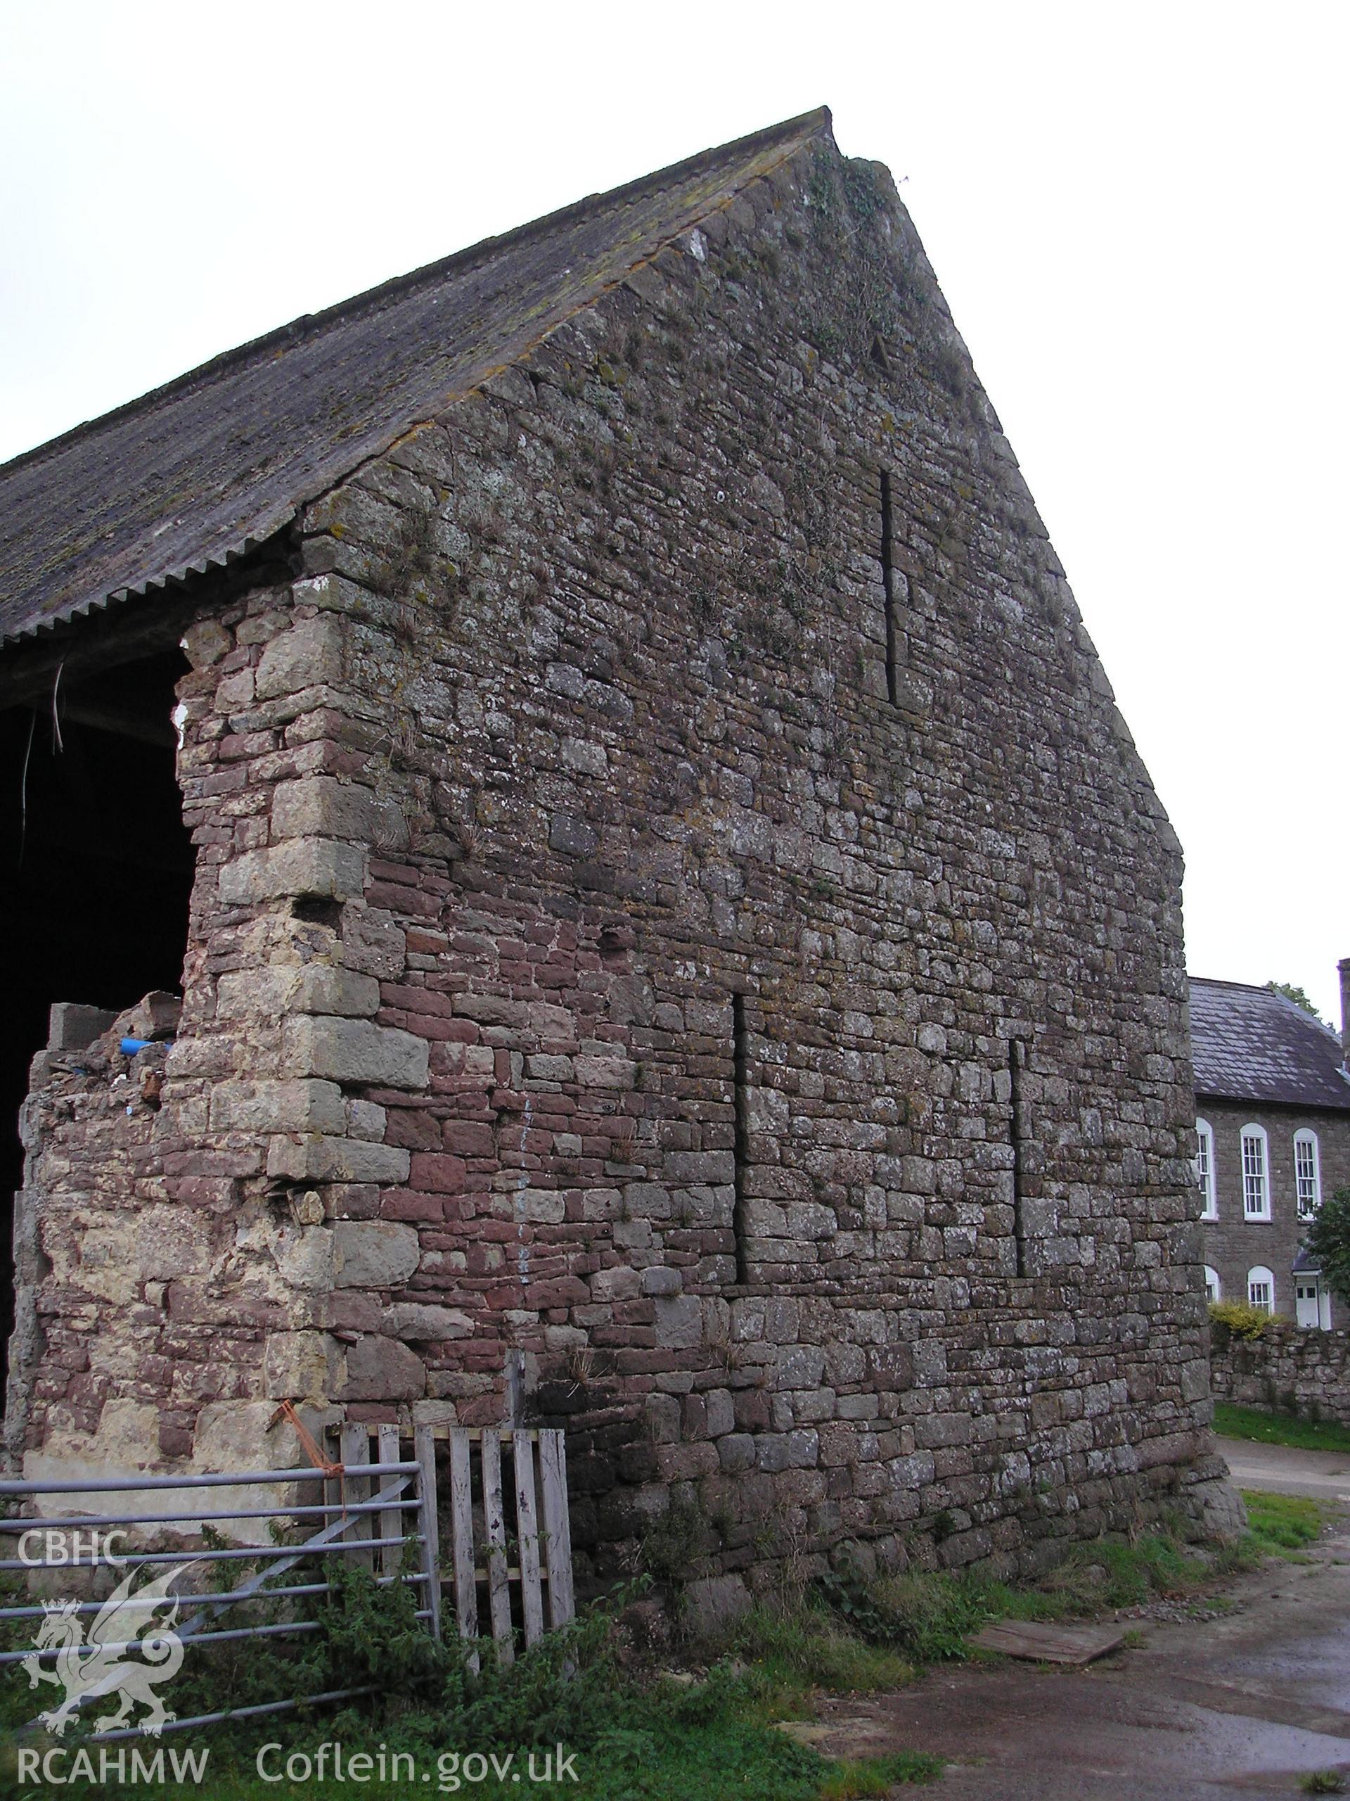
<instances>
[{"instance_id":1,"label":"green grass and weeds along the foot of the barn wall","mask_svg":"<svg viewBox=\"0 0 1350 1801\"><path fill-rule=\"evenodd\" d=\"M781 1594L745 1614L715 1644L689 1646L700 1680L657 1677L641 1668L619 1625L619 1606L594 1610L551 1634L515 1666L490 1659L481 1675L464 1670L454 1646L437 1650L409 1617L409 1590L376 1590L353 1574L335 1597L328 1630L302 1652L279 1655L259 1644L221 1648L184 1670L171 1706L180 1716L207 1706L247 1706L279 1693L319 1693L376 1680L385 1693L364 1711L320 1711L256 1727L236 1724L211 1733L166 1738L209 1747L209 1772L194 1787L211 1801L349 1801L356 1785L319 1776L319 1747L340 1743L347 1767L369 1758L358 1792L367 1801L405 1801L409 1794L468 1792L482 1801L518 1797L527 1776L560 1743L574 1754L576 1779L556 1783L580 1801L862 1801L900 1783L925 1783L941 1761L920 1752L875 1760L832 1760L810 1743L776 1731L812 1711L819 1689L853 1693L891 1689L916 1664L968 1655L968 1637L994 1619L1084 1619L1157 1597L1199 1596L1265 1556L1300 1558L1330 1509L1285 1495L1246 1497L1251 1531L1220 1554L1186 1547L1166 1531L1132 1542L1073 1545L1035 1587L1013 1587L968 1574L909 1569L868 1578L848 1558L815 1587ZM400 1612L401 1610L401 1612ZM0 1675L5 1718L27 1718L38 1700L20 1671ZM43 1697L47 1698L47 1697ZM265 1743L279 1745L257 1769ZM77 1745L94 1758L95 1779L79 1779ZM95 1738L67 1738L63 1790L81 1801L144 1794L144 1783L103 1774L101 1752L119 1749ZM153 1752L157 1747L148 1745ZM382 1779L380 1756L401 1756ZM491 1774L491 1758L500 1776ZM500 1765L502 1758L511 1765ZM286 1760L295 1772L286 1774ZM470 1765L468 1760L481 1760ZM409 1763L410 1760L410 1763ZM115 1763L113 1763L115 1772ZM526 1774L522 1774L526 1772ZM49 1781L20 1783L0 1752L0 1787L36 1801ZM268 1779L270 1778L270 1779ZM279 1779L277 1779L279 1778ZM184 1785L187 1787L187 1785Z\"/></svg>"}]
</instances>

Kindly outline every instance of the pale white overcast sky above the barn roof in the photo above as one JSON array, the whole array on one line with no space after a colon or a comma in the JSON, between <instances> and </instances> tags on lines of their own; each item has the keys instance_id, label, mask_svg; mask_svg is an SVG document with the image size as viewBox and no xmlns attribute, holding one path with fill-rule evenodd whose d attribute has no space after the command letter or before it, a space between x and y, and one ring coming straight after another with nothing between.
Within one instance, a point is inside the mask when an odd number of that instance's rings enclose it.
<instances>
[{"instance_id":1,"label":"pale white overcast sky above the barn roof","mask_svg":"<svg viewBox=\"0 0 1350 1801\"><path fill-rule=\"evenodd\" d=\"M0 0L0 457L828 103L902 184L1181 834L1192 971L1339 1025L1345 18Z\"/></svg>"}]
</instances>

